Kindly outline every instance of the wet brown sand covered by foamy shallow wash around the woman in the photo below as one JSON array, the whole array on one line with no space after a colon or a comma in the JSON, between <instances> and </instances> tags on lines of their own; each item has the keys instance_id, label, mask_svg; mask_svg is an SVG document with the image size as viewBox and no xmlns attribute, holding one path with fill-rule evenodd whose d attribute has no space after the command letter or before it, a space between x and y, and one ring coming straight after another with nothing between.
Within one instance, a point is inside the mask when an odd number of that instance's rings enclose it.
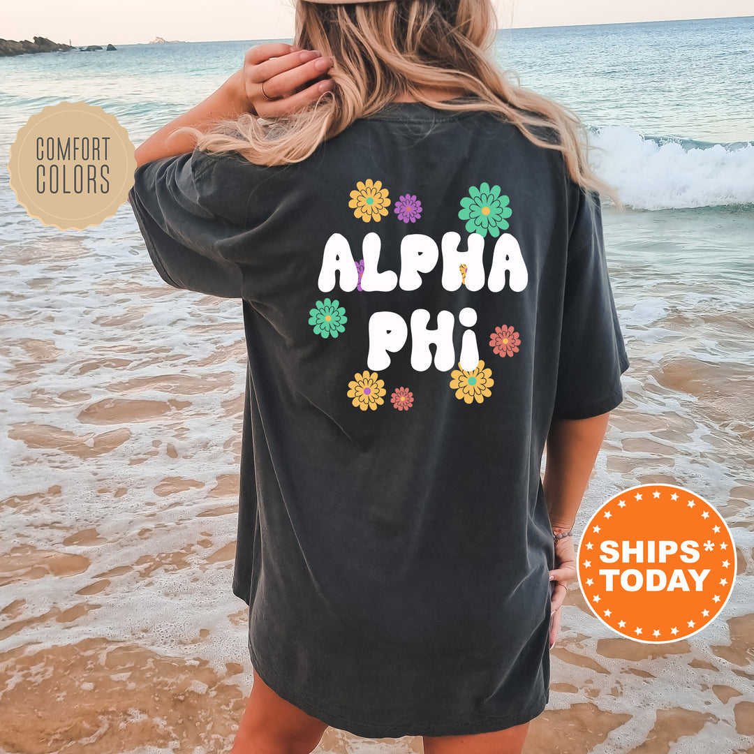
<instances>
[{"instance_id":1,"label":"wet brown sand covered by foamy shallow wash around the woman","mask_svg":"<svg viewBox=\"0 0 754 754\"><path fill-rule=\"evenodd\" d=\"M252 682L248 608L231 593L240 302L162 284L121 209L117 244L40 233L5 244L0 267L6 754L225 752ZM737 584L708 630L658 646L611 634L571 584L525 752L754 754L751 362L667 355L707 328L750 344L754 312L650 322L627 296L626 400L576 530L619 489L694 488L731 527ZM317 748L421 751L333 728Z\"/></svg>"}]
</instances>

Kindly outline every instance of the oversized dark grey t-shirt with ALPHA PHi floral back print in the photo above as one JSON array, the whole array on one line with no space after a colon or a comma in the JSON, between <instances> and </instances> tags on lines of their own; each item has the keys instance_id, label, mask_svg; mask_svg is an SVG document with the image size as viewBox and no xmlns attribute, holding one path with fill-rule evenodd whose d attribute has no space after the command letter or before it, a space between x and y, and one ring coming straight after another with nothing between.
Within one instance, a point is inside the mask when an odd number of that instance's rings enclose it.
<instances>
[{"instance_id":1,"label":"oversized dark grey t-shirt with ALPHA PHi floral back print","mask_svg":"<svg viewBox=\"0 0 754 754\"><path fill-rule=\"evenodd\" d=\"M167 284L241 299L259 676L363 737L538 716L544 443L628 367L599 195L494 115L393 103L296 164L152 161L129 198Z\"/></svg>"}]
</instances>

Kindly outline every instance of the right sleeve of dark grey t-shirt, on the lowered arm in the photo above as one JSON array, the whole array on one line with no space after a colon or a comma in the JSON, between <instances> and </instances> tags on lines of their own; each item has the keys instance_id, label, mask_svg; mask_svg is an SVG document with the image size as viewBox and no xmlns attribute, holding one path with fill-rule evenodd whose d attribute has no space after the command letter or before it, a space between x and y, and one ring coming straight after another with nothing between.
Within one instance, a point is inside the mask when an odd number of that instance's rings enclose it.
<instances>
[{"instance_id":1,"label":"right sleeve of dark grey t-shirt, on the lowered arm","mask_svg":"<svg viewBox=\"0 0 754 754\"><path fill-rule=\"evenodd\" d=\"M623 401L629 360L608 276L599 192L578 187L571 227L553 416L578 419Z\"/></svg>"}]
</instances>

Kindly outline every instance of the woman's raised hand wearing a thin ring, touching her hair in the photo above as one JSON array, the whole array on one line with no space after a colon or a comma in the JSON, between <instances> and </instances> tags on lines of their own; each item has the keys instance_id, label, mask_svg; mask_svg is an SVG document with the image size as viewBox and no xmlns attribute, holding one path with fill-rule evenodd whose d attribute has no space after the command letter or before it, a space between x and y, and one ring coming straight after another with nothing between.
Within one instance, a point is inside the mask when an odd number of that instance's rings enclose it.
<instances>
[{"instance_id":1,"label":"woman's raised hand wearing a thin ring, touching her hair","mask_svg":"<svg viewBox=\"0 0 754 754\"><path fill-rule=\"evenodd\" d=\"M333 60L316 50L302 50L286 42L256 44L247 52L239 72L240 95L248 110L261 118L287 115L332 89L333 80L327 78L332 66Z\"/></svg>"}]
</instances>

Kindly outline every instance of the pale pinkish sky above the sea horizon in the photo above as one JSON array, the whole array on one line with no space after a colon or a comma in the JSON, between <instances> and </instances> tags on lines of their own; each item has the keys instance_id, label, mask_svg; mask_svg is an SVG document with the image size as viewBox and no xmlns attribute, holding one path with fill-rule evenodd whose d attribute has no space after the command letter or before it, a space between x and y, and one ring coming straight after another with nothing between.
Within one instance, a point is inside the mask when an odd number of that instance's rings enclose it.
<instances>
[{"instance_id":1,"label":"pale pinkish sky above the sea horizon","mask_svg":"<svg viewBox=\"0 0 754 754\"><path fill-rule=\"evenodd\" d=\"M493 0L501 28L749 16L752 0ZM293 37L293 0L24 0L3 2L0 38L139 44Z\"/></svg>"}]
</instances>

